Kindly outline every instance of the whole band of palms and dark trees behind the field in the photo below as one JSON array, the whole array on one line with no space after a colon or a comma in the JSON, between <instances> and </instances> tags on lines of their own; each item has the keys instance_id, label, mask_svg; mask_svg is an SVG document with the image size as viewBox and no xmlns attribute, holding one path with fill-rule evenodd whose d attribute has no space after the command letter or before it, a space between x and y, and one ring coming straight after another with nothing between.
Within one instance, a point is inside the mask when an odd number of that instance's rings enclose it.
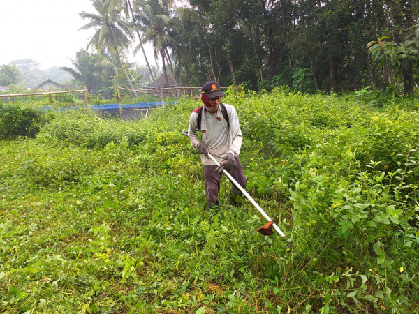
<instances>
[{"instance_id":1,"label":"whole band of palms and dark trees behind the field","mask_svg":"<svg viewBox=\"0 0 419 314\"><path fill-rule=\"evenodd\" d=\"M82 29L93 30L87 49L108 63L95 63L99 68L90 75L77 66L73 73L67 70L95 86L93 91L109 84L135 88L140 80L135 62L145 61L153 82L157 73L143 43L152 43L166 84L170 76L178 86L216 80L222 86L270 90L287 85L309 93L370 87L412 94L418 88L419 0L92 2L96 12L80 13L88 21ZM134 63L126 58L130 47L143 52ZM101 87L97 75L108 75Z\"/></svg>"}]
</instances>

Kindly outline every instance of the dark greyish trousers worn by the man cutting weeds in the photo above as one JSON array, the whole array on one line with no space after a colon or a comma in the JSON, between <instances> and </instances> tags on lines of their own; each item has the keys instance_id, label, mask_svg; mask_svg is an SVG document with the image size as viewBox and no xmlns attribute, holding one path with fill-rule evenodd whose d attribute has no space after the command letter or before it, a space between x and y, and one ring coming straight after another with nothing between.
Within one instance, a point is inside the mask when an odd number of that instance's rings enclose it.
<instances>
[{"instance_id":1,"label":"dark greyish trousers worn by the man cutting weeds","mask_svg":"<svg viewBox=\"0 0 419 314\"><path fill-rule=\"evenodd\" d=\"M207 195L207 207L211 208L214 205L218 205L218 195L220 191L221 174L223 172L217 172L217 165L203 165L204 167L204 182L205 182L205 194ZM235 157L235 167L229 167L226 169L228 173L237 181L242 188L246 188L246 177L244 176L243 167L240 163L239 156ZM234 194L240 193L240 190L235 188L232 183L232 192Z\"/></svg>"}]
</instances>

